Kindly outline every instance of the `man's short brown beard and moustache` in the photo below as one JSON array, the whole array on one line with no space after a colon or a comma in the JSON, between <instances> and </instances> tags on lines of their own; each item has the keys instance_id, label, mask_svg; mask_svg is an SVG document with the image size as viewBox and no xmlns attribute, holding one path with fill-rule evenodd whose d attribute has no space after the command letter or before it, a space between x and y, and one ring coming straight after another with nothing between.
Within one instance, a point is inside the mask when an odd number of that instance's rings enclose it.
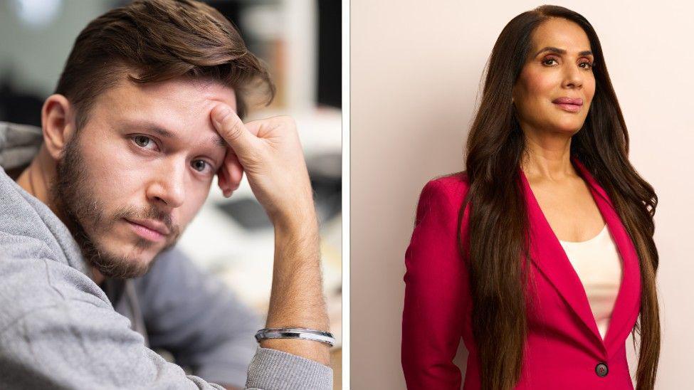
<instances>
[{"instance_id":1,"label":"man's short brown beard and moustache","mask_svg":"<svg viewBox=\"0 0 694 390\"><path fill-rule=\"evenodd\" d=\"M51 197L53 204L63 211L66 225L70 229L73 238L82 250L83 257L88 265L93 265L106 278L134 278L147 273L154 263L137 260L127 254L109 253L106 248L90 236L101 234L106 236L122 218L130 219L154 219L161 221L171 232L167 236L167 244L162 251L174 246L180 234L179 229L173 226L171 216L159 211L154 206L145 210L137 210L124 206L118 209L113 216L105 215L105 208L95 195L92 183L90 183L88 167L80 153L80 134L75 134L73 139L65 144L62 161L57 162L56 181L51 184ZM91 228L87 232L83 223L88 223ZM138 237L134 250L142 251L156 245L152 241Z\"/></svg>"}]
</instances>

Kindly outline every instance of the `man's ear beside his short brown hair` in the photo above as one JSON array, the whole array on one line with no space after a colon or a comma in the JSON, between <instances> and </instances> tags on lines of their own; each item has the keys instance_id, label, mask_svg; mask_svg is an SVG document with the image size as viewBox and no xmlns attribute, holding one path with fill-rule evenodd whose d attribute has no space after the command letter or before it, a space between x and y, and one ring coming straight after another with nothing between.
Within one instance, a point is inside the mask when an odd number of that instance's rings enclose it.
<instances>
[{"instance_id":1,"label":"man's ear beside his short brown hair","mask_svg":"<svg viewBox=\"0 0 694 390\"><path fill-rule=\"evenodd\" d=\"M75 135L72 105L63 95L53 94L46 98L41 108L43 142L54 160L63 157L65 144Z\"/></svg>"}]
</instances>

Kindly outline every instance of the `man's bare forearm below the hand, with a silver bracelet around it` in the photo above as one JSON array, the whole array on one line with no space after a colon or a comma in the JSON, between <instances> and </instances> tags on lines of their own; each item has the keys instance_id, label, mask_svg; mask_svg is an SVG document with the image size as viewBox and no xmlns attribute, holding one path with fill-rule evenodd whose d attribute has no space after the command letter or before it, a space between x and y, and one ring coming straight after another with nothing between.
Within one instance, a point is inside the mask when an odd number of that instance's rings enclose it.
<instances>
[{"instance_id":1,"label":"man's bare forearm below the hand, with a silver bracelet around it","mask_svg":"<svg viewBox=\"0 0 694 390\"><path fill-rule=\"evenodd\" d=\"M291 223L275 223L275 264L266 327L329 331L320 270L320 236L315 211ZM266 339L261 347L330 365L330 347L300 339Z\"/></svg>"}]
</instances>

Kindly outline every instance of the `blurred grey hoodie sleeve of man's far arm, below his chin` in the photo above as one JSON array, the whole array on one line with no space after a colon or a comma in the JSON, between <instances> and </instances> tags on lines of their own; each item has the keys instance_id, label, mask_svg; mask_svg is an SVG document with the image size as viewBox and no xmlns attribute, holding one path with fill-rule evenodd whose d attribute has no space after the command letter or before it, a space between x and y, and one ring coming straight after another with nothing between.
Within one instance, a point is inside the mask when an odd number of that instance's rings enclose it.
<instances>
[{"instance_id":1,"label":"blurred grey hoodie sleeve of man's far arm, below his chin","mask_svg":"<svg viewBox=\"0 0 694 390\"><path fill-rule=\"evenodd\" d=\"M246 383L261 319L216 275L174 248L157 256L135 287L152 349L172 352L178 364L206 380Z\"/></svg>"}]
</instances>

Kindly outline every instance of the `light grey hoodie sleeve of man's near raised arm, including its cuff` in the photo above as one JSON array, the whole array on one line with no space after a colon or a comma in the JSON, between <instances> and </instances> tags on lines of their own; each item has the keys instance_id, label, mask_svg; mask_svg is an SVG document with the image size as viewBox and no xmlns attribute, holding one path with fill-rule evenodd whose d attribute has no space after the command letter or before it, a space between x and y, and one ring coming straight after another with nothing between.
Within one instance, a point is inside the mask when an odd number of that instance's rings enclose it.
<instances>
[{"instance_id":1,"label":"light grey hoodie sleeve of man's near raised arm, including its cuff","mask_svg":"<svg viewBox=\"0 0 694 390\"><path fill-rule=\"evenodd\" d=\"M24 253L46 253L40 241L10 239ZM1 389L223 389L147 348L85 274L50 258L4 254ZM248 373L250 389L332 388L332 369L280 351L257 349Z\"/></svg>"}]
</instances>

